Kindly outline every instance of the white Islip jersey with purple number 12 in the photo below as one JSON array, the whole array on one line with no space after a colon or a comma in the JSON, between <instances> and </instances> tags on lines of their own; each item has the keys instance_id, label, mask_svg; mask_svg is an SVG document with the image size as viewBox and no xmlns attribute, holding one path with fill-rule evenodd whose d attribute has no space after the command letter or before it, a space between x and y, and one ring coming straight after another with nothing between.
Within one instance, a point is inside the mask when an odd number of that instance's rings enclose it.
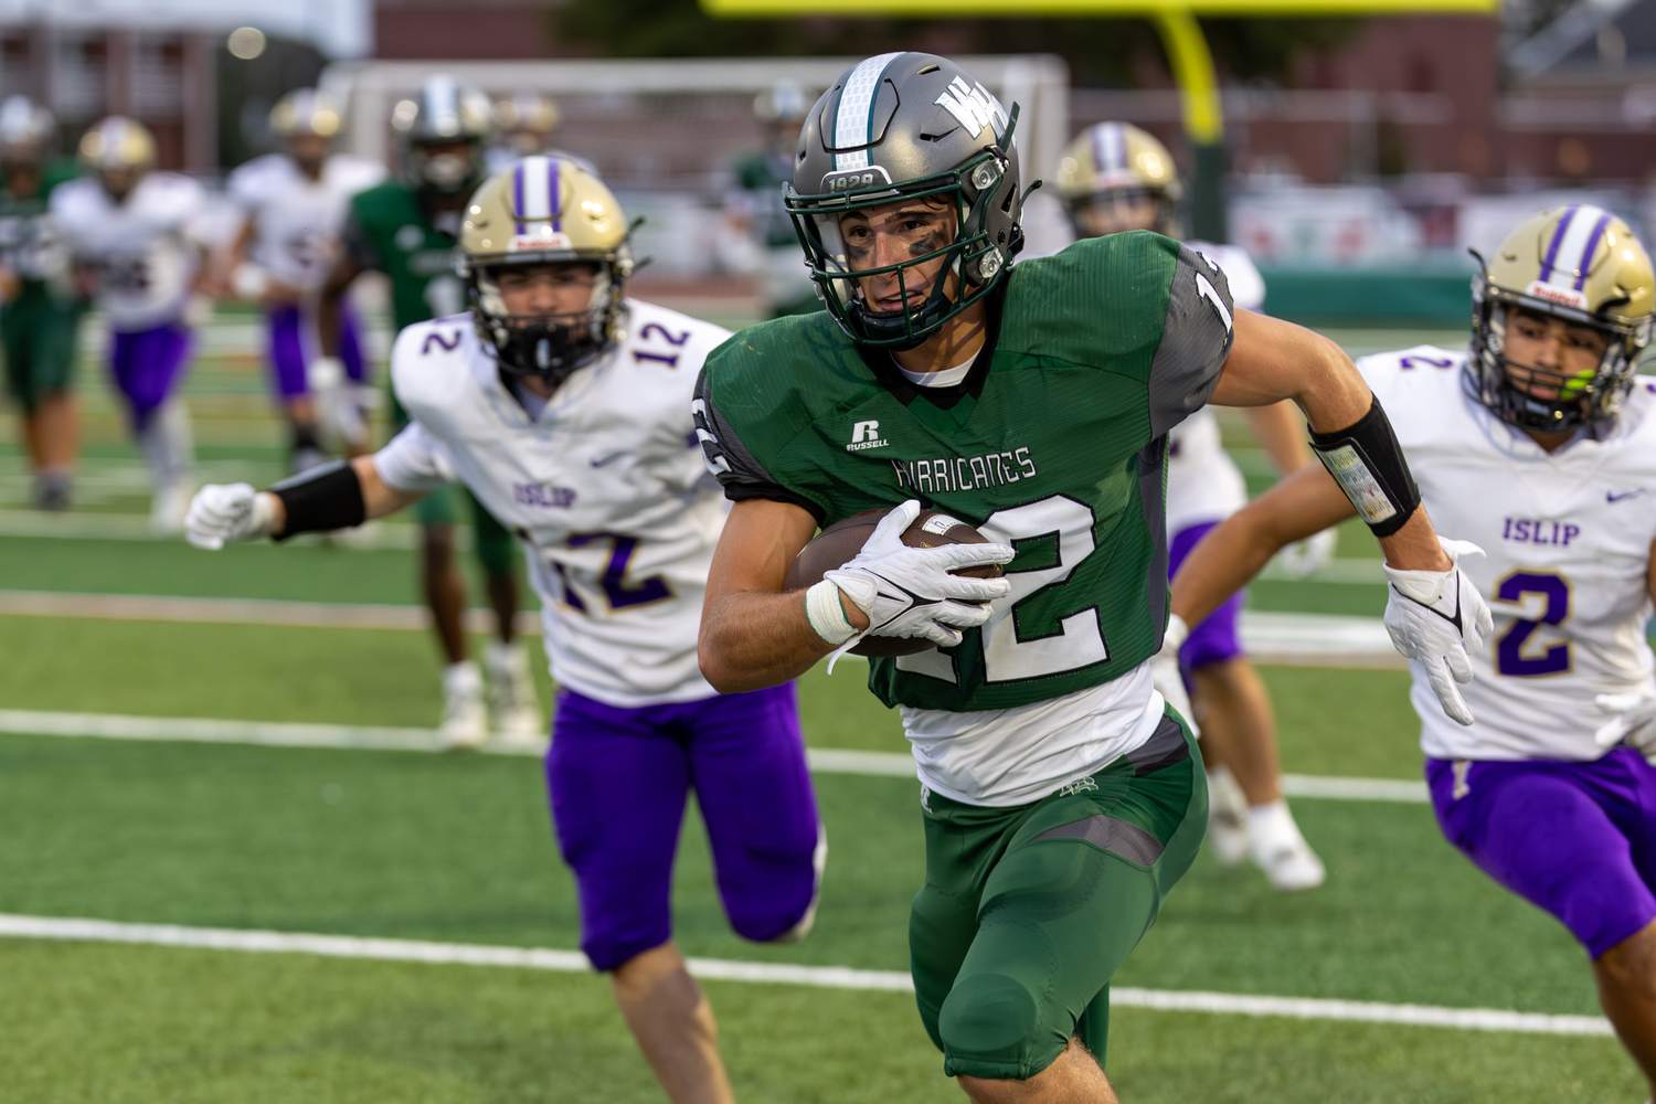
<instances>
[{"instance_id":1,"label":"white Islip jersey with purple number 12","mask_svg":"<svg viewBox=\"0 0 1656 1104\"><path fill-rule=\"evenodd\" d=\"M414 422L374 465L401 490L465 483L530 546L551 677L638 707L714 695L696 634L729 505L702 463L691 392L730 334L626 306L626 336L533 419L469 314L409 326L391 382Z\"/></svg>"}]
</instances>

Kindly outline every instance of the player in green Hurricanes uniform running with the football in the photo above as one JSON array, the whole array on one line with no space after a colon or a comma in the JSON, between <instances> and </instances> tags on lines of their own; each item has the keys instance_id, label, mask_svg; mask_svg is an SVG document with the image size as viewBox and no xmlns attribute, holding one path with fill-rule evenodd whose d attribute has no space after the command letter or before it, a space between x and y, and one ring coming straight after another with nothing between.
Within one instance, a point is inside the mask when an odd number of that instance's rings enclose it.
<instances>
[{"instance_id":1,"label":"player in green Hurricanes uniform running with the football","mask_svg":"<svg viewBox=\"0 0 1656 1104\"><path fill-rule=\"evenodd\" d=\"M1110 978L1207 819L1149 665L1167 626L1167 432L1209 399L1293 399L1403 569L1399 650L1471 677L1489 611L1331 341L1235 311L1217 266L1149 232L1012 268L1012 129L982 84L921 53L853 66L811 109L787 202L828 311L707 359L699 435L734 506L699 655L737 692L864 636L937 646L869 664L922 783L921 1018L974 1101L1113 1101ZM921 502L992 543L906 546ZM864 510L889 513L861 553L783 591L816 528ZM954 574L984 561L1005 576Z\"/></svg>"}]
</instances>

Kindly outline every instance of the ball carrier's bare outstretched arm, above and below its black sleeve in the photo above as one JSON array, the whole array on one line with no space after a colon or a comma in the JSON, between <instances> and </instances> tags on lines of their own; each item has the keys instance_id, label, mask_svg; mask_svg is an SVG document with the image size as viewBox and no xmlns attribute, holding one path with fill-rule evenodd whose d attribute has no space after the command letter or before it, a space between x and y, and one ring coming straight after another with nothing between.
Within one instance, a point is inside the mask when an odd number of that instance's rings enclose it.
<instances>
[{"instance_id":1,"label":"ball carrier's bare outstretched arm, above and below its black sleeve","mask_svg":"<svg viewBox=\"0 0 1656 1104\"><path fill-rule=\"evenodd\" d=\"M1305 412L1313 434L1338 434L1355 427L1374 406L1374 394L1338 344L1293 323L1237 311L1235 344L1230 346L1212 402L1257 407L1282 399L1292 399ZM1451 568L1449 556L1437 545L1431 518L1418 500L1401 528L1376 531L1376 536L1386 563L1394 568Z\"/></svg>"}]
</instances>

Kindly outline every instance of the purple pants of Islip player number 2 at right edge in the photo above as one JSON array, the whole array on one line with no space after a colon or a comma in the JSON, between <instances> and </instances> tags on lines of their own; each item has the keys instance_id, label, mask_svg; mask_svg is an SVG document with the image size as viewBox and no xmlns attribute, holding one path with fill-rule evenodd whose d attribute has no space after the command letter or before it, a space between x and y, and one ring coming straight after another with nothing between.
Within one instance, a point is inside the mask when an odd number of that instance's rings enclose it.
<instances>
[{"instance_id":1,"label":"purple pants of Islip player number 2 at right edge","mask_svg":"<svg viewBox=\"0 0 1656 1104\"><path fill-rule=\"evenodd\" d=\"M1656 919L1656 768L1426 760L1437 823L1492 879L1558 917L1598 958Z\"/></svg>"}]
</instances>

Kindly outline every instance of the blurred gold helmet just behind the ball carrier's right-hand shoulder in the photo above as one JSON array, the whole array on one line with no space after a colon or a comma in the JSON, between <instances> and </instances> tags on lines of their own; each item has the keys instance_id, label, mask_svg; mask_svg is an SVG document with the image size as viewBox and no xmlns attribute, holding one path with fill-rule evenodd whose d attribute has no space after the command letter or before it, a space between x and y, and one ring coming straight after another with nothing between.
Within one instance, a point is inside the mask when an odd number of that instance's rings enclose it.
<instances>
[{"instance_id":1,"label":"blurred gold helmet just behind the ball carrier's right-hand shoulder","mask_svg":"<svg viewBox=\"0 0 1656 1104\"><path fill-rule=\"evenodd\" d=\"M1166 146L1129 122L1096 122L1075 136L1058 161L1058 195L1076 237L1131 228L1179 237L1179 167ZM1134 225L1139 205L1154 205L1153 225Z\"/></svg>"}]
</instances>

